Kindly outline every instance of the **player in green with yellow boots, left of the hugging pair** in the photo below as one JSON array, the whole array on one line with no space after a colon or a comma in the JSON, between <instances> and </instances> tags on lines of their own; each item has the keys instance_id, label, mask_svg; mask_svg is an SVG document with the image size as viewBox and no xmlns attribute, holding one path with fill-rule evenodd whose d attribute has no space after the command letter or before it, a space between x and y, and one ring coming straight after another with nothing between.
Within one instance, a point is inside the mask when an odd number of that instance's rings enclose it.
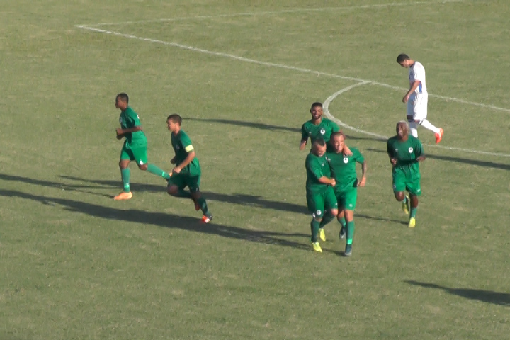
<instances>
[{"instance_id":1,"label":"player in green with yellow boots, left of the hugging pair","mask_svg":"<svg viewBox=\"0 0 510 340\"><path fill-rule=\"evenodd\" d=\"M322 241L326 241L324 225L327 225L338 215L338 204L333 191L336 181L331 178L324 140L314 140L310 154L306 158L305 167L307 170L307 206L308 210L312 212L312 222L310 222L312 246L314 251L322 252L317 241L317 234L320 234ZM326 210L329 210L328 213Z\"/></svg>"}]
</instances>

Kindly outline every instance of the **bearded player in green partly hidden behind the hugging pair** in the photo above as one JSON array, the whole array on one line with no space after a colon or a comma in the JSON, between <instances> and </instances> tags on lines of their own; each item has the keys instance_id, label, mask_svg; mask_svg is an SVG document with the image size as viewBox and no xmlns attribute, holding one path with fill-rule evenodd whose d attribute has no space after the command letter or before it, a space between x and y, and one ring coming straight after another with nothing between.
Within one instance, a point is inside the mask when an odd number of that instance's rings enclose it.
<instances>
[{"instance_id":1,"label":"bearded player in green partly hidden behind the hugging pair","mask_svg":"<svg viewBox=\"0 0 510 340\"><path fill-rule=\"evenodd\" d=\"M300 150L305 149L308 137L310 137L312 144L315 140L319 139L328 142L331 133L340 130L336 123L327 118L322 118L322 103L313 103L312 108L310 108L310 113L312 114L312 119L303 124L301 128Z\"/></svg>"}]
</instances>

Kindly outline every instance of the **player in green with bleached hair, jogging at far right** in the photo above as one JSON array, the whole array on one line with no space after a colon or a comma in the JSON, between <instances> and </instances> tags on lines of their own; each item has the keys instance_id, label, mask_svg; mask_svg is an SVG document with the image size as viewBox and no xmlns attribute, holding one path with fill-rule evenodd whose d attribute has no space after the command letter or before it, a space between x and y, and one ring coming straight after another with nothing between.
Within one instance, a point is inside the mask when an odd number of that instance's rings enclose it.
<instances>
[{"instance_id":1,"label":"player in green with bleached hair, jogging at far right","mask_svg":"<svg viewBox=\"0 0 510 340\"><path fill-rule=\"evenodd\" d=\"M397 135L387 140L386 147L393 166L395 198L402 202L402 210L406 214L409 214L410 201L409 227L414 227L418 196L421 195L419 162L425 159L423 147L418 138L409 135L409 125L404 121L397 123ZM409 196L404 191L408 191Z\"/></svg>"}]
</instances>

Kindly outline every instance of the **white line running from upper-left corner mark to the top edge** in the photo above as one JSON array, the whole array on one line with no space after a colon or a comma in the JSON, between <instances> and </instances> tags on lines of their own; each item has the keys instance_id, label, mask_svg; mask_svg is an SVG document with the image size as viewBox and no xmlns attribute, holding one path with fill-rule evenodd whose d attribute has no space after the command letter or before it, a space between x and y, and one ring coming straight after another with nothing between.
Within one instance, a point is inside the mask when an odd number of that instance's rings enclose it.
<instances>
[{"instance_id":1,"label":"white line running from upper-left corner mark to the top edge","mask_svg":"<svg viewBox=\"0 0 510 340\"><path fill-rule=\"evenodd\" d=\"M300 13L300 12L322 12L322 11L350 11L356 9L370 9L370 8L385 8L393 6L415 6L415 5L435 5L435 4L454 4L465 2L465 0L443 0L443 1L416 1L416 2L390 2L387 4L372 4L372 5L358 5L358 6L343 6L343 7L321 7L321 8L293 8L283 9L280 11L260 11L260 12L245 12L245 13L233 13L233 14L217 14L215 16L188 16L181 18L161 18L161 19L149 19L140 21L123 21L120 23L94 23L84 26L97 27L97 26L115 26L115 25L130 25L133 23L161 23L165 21L186 21L186 20L203 20L203 19L214 19L214 18L229 18L236 16L262 16L279 13Z\"/></svg>"}]
</instances>

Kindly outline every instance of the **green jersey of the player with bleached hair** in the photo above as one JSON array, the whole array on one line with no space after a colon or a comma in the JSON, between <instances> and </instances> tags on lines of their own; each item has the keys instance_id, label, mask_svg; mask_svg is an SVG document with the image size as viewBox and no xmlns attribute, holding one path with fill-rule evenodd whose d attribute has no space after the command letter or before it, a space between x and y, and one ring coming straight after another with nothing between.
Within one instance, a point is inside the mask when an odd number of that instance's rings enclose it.
<instances>
[{"instance_id":1,"label":"green jersey of the player with bleached hair","mask_svg":"<svg viewBox=\"0 0 510 340\"><path fill-rule=\"evenodd\" d=\"M424 151L418 138L408 136L407 140L402 142L398 140L398 136L394 136L387 140L386 147L388 155L397 159L397 165L393 167L394 172L419 173L417 158L422 156Z\"/></svg>"}]
</instances>

